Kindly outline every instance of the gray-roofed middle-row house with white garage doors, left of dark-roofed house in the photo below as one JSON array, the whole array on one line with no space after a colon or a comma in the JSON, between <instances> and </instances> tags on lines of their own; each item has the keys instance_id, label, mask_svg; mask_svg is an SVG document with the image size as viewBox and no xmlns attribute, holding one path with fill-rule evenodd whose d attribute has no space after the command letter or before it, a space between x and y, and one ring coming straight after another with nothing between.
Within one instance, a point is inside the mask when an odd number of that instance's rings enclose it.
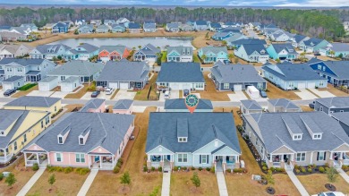
<instances>
[{"instance_id":1,"label":"gray-roofed middle-row house with white garage doors, left of dark-roofed house","mask_svg":"<svg viewBox=\"0 0 349 196\"><path fill-rule=\"evenodd\" d=\"M97 86L114 89L143 89L149 81L149 66L144 62L108 61Z\"/></svg>"}]
</instances>

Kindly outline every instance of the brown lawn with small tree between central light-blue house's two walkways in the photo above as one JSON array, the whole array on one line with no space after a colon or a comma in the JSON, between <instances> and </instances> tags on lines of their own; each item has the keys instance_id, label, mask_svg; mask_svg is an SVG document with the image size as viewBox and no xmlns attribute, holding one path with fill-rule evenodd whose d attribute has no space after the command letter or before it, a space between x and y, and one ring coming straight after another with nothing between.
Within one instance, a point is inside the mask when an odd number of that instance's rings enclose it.
<instances>
[{"instance_id":1,"label":"brown lawn with small tree between central light-blue house's two walkways","mask_svg":"<svg viewBox=\"0 0 349 196\"><path fill-rule=\"evenodd\" d=\"M195 189L191 178L197 172L200 178L200 187ZM206 170L190 172L174 172L171 174L171 195L219 195L216 175Z\"/></svg>"}]
</instances>

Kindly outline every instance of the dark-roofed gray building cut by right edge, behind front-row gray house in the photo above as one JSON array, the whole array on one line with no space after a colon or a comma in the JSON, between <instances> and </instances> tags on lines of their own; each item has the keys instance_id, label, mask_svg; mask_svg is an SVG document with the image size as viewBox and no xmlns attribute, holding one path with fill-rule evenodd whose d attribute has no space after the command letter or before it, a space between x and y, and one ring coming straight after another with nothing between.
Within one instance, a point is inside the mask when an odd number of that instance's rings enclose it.
<instances>
[{"instance_id":1,"label":"dark-roofed gray building cut by right edge, behind front-row gray house","mask_svg":"<svg viewBox=\"0 0 349 196\"><path fill-rule=\"evenodd\" d=\"M338 112L349 112L349 97L316 98L314 110L328 115Z\"/></svg>"}]
</instances>

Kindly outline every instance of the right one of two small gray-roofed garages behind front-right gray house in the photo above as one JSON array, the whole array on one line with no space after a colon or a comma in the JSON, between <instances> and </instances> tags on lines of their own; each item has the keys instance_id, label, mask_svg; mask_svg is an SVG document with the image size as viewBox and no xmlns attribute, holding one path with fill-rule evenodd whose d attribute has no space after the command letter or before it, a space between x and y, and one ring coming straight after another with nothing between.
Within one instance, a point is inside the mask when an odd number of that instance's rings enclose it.
<instances>
[{"instance_id":1,"label":"right one of two small gray-roofed garages behind front-right gray house","mask_svg":"<svg viewBox=\"0 0 349 196\"><path fill-rule=\"evenodd\" d=\"M302 112L302 108L286 98L268 99L268 112Z\"/></svg>"}]
</instances>

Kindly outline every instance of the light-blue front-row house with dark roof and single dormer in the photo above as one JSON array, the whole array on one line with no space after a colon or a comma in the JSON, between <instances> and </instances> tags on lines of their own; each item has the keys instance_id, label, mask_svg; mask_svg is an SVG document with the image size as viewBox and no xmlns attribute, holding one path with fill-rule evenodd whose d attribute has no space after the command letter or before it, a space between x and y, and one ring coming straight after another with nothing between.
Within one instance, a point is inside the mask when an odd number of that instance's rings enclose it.
<instances>
[{"instance_id":1,"label":"light-blue front-row house with dark roof and single dormer","mask_svg":"<svg viewBox=\"0 0 349 196\"><path fill-rule=\"evenodd\" d=\"M150 113L147 166L240 168L242 154L231 113Z\"/></svg>"}]
</instances>

